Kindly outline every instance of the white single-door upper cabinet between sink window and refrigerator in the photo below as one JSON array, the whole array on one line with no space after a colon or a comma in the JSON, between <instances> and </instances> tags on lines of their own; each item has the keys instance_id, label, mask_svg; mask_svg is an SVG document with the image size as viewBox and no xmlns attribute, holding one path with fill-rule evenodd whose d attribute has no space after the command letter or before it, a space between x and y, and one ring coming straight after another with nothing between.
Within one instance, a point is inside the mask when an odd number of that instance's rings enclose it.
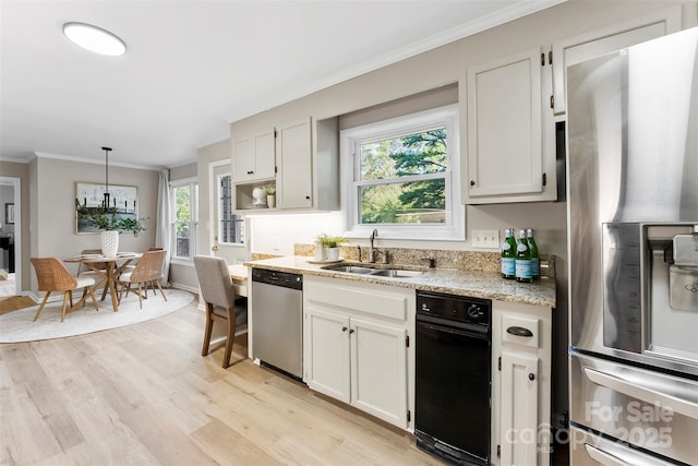
<instances>
[{"instance_id":1,"label":"white single-door upper cabinet between sink window and refrigerator","mask_svg":"<svg viewBox=\"0 0 698 466\"><path fill-rule=\"evenodd\" d=\"M537 47L468 70L464 203L557 199L547 57Z\"/></svg>"}]
</instances>

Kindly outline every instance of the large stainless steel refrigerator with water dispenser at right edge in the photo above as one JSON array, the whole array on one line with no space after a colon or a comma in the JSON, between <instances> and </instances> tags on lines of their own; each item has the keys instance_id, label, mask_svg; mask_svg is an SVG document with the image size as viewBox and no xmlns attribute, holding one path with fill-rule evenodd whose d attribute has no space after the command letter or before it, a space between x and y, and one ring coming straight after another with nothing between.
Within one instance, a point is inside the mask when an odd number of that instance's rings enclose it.
<instances>
[{"instance_id":1,"label":"large stainless steel refrigerator with water dispenser at right edge","mask_svg":"<svg viewBox=\"0 0 698 466\"><path fill-rule=\"evenodd\" d=\"M698 464L698 28L567 70L570 456Z\"/></svg>"}]
</instances>

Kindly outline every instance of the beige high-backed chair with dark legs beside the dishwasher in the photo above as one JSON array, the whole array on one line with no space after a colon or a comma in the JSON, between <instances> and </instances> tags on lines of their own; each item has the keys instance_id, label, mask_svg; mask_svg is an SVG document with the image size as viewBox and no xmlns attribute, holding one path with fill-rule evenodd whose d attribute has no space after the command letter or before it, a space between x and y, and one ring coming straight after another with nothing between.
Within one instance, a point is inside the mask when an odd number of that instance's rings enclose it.
<instances>
[{"instance_id":1,"label":"beige high-backed chair with dark legs beside the dishwasher","mask_svg":"<svg viewBox=\"0 0 698 466\"><path fill-rule=\"evenodd\" d=\"M224 369L230 366L232 343L238 324L248 322L248 308L244 299L236 299L236 290L230 278L228 262L224 258L207 255L194 256L194 268L201 288L201 299L206 306L206 330L201 355L208 355L214 322L226 323L226 353L222 358Z\"/></svg>"}]
</instances>

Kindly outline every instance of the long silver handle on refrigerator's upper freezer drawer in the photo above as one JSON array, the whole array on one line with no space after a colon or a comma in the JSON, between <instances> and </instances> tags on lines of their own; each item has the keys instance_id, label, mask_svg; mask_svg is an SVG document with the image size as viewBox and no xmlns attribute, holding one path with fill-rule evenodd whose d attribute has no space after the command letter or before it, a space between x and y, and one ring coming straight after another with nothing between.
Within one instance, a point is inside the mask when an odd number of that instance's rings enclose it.
<instances>
[{"instance_id":1,"label":"long silver handle on refrigerator's upper freezer drawer","mask_svg":"<svg viewBox=\"0 0 698 466\"><path fill-rule=\"evenodd\" d=\"M587 378L597 385L605 386L642 402L671 408L674 413L698 420L698 384L674 378L617 369L602 372L583 368Z\"/></svg>"}]
</instances>

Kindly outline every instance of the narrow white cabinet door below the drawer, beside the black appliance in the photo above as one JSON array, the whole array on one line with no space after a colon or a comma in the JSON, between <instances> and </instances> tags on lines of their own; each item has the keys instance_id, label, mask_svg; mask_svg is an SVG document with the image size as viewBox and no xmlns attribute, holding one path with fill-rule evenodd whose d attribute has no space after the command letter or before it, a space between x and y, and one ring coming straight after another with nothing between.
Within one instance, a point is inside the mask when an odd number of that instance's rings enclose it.
<instances>
[{"instance_id":1,"label":"narrow white cabinet door below the drawer, beside the black appliance","mask_svg":"<svg viewBox=\"0 0 698 466\"><path fill-rule=\"evenodd\" d=\"M502 351L501 466L538 464L538 366L533 355Z\"/></svg>"}]
</instances>

